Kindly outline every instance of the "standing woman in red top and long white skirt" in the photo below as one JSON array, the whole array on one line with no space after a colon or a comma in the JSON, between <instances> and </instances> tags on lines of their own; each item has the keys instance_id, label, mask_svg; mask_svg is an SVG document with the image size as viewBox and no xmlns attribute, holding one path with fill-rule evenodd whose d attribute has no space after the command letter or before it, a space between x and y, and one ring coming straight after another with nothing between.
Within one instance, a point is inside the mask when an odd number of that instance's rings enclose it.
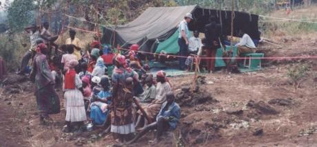
<instances>
[{"instance_id":1,"label":"standing woman in red top and long white skirt","mask_svg":"<svg viewBox=\"0 0 317 147\"><path fill-rule=\"evenodd\" d=\"M72 130L70 126L71 122L76 122L76 130L80 132L80 127L83 125L83 121L87 119L83 101L83 83L74 69L77 65L78 61L70 61L70 69L65 74L64 97L66 127L63 131L66 133L70 133Z\"/></svg>"}]
</instances>

